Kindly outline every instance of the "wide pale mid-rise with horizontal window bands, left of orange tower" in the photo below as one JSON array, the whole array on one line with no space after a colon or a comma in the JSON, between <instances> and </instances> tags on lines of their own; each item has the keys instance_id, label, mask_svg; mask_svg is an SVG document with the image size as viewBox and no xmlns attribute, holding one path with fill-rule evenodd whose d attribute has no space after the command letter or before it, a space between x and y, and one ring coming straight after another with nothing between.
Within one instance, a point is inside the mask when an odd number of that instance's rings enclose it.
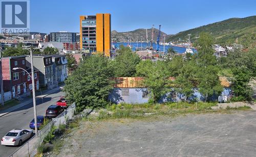
<instances>
[{"instance_id":1,"label":"wide pale mid-rise with horizontal window bands, left of orange tower","mask_svg":"<svg viewBox=\"0 0 256 157\"><path fill-rule=\"evenodd\" d=\"M76 42L76 33L71 32L51 32L50 41Z\"/></svg>"}]
</instances>

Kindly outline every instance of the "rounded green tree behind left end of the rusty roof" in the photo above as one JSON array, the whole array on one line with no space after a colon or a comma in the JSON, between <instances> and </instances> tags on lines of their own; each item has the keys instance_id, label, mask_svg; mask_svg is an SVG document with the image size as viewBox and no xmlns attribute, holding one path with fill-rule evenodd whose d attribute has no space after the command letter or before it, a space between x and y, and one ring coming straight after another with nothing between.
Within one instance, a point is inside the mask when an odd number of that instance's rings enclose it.
<instances>
[{"instance_id":1,"label":"rounded green tree behind left end of the rusty roof","mask_svg":"<svg viewBox=\"0 0 256 157\"><path fill-rule=\"evenodd\" d=\"M131 77L136 74L140 58L129 47L120 46L117 57L112 62L116 77Z\"/></svg>"}]
</instances>

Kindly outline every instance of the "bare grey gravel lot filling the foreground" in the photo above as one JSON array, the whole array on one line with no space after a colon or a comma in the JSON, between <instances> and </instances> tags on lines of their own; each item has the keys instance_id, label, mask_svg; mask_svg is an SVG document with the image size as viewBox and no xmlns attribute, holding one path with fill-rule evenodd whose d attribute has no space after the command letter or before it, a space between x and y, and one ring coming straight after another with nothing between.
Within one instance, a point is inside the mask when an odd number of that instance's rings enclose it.
<instances>
[{"instance_id":1,"label":"bare grey gravel lot filling the foreground","mask_svg":"<svg viewBox=\"0 0 256 157\"><path fill-rule=\"evenodd\" d=\"M256 112L82 121L58 156L255 156Z\"/></svg>"}]
</instances>

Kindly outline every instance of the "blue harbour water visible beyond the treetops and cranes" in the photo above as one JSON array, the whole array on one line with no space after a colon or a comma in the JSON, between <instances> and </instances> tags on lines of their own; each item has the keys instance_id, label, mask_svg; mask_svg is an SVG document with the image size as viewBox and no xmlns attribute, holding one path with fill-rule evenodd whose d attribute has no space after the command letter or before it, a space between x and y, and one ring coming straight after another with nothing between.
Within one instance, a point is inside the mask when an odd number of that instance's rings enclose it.
<instances>
[{"instance_id":1,"label":"blue harbour water visible beyond the treetops and cranes","mask_svg":"<svg viewBox=\"0 0 256 157\"><path fill-rule=\"evenodd\" d=\"M127 46L128 44L129 44L128 42L116 42L116 43L113 43L113 45L115 45L117 48L119 48L120 45ZM132 45L132 50L135 51L136 48L137 48L137 42L132 42L131 45ZM142 43L142 47L143 47L143 48L145 48L146 46L147 46L147 43ZM141 47L141 43L140 43L140 42L138 43L138 47L139 47L139 48ZM165 45L165 46L164 46L164 52L165 52L165 53L167 53L167 49L168 49L169 47L173 47L173 49L174 49L175 51L177 51L177 53L179 53L179 54L185 53L185 51L186 51L186 48L185 48L185 47L167 46L167 45ZM153 48L156 49L156 48L157 48L157 44L153 43ZM163 45L159 45L159 50L160 50L160 51L163 51ZM192 48L192 50L193 50L194 52L197 51L195 48Z\"/></svg>"}]
</instances>

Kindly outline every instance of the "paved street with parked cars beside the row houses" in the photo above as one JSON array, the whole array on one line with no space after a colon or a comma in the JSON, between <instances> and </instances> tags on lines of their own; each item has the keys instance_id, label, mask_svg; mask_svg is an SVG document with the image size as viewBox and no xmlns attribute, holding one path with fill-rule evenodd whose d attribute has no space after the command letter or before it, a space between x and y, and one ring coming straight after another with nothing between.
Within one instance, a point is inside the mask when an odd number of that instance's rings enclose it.
<instances>
[{"instance_id":1,"label":"paved street with parked cars beside the row houses","mask_svg":"<svg viewBox=\"0 0 256 157\"><path fill-rule=\"evenodd\" d=\"M36 99L37 115L45 115L46 109L55 104L60 96L63 96L62 91L57 91L44 97L44 103L41 98ZM34 118L33 103L29 103L27 106L17 109L3 117L0 117L0 138L5 136L7 132L14 128L29 128L30 121ZM19 147L0 146L0 157L9 156L12 152Z\"/></svg>"}]
</instances>

